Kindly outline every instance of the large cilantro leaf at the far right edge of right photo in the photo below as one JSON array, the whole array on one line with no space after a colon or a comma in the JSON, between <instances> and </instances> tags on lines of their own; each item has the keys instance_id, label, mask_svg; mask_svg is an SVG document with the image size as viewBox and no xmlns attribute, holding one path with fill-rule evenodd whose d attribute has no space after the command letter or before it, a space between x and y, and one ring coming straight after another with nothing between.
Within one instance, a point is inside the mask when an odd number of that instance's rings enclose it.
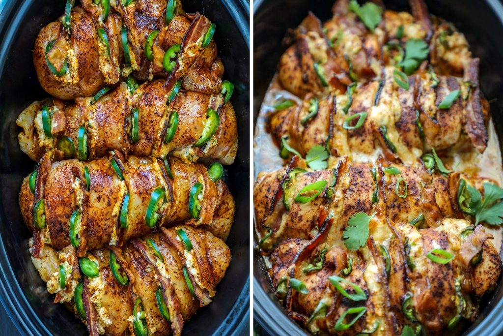
<instances>
[{"instance_id":1,"label":"large cilantro leaf at the far right edge of right photo","mask_svg":"<svg viewBox=\"0 0 503 336\"><path fill-rule=\"evenodd\" d=\"M490 225L503 224L503 189L492 183L484 183L484 200L477 188L466 186L470 193L470 209L475 212L475 225L484 222Z\"/></svg>"}]
</instances>

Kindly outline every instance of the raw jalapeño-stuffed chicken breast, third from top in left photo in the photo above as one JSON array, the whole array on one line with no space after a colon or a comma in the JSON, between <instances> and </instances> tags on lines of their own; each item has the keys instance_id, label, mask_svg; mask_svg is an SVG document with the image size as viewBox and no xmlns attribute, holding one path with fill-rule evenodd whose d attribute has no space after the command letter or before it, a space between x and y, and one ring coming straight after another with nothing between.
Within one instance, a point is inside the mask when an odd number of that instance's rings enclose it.
<instances>
[{"instance_id":1,"label":"raw jalape\u00f1o-stuffed chicken breast, third from top in left photo","mask_svg":"<svg viewBox=\"0 0 503 336\"><path fill-rule=\"evenodd\" d=\"M205 166L176 158L125 160L115 152L90 162L51 163L46 155L38 165L36 185L32 192L26 178L20 192L23 218L34 232L35 256L44 244L55 249L72 245L81 256L178 223L225 239L235 211L221 179L213 181ZM195 185L200 192L192 199Z\"/></svg>"}]
</instances>

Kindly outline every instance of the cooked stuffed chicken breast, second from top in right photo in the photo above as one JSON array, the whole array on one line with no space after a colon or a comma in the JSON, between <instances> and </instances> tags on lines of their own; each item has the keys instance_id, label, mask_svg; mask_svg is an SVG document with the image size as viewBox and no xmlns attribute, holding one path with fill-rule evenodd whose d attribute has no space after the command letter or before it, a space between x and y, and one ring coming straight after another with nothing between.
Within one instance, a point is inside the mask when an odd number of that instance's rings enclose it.
<instances>
[{"instance_id":1,"label":"cooked stuffed chicken breast, second from top in right photo","mask_svg":"<svg viewBox=\"0 0 503 336\"><path fill-rule=\"evenodd\" d=\"M325 98L307 94L301 102L271 112L268 131L280 147L282 157L302 156L315 146L332 156L362 155L415 163L432 148L483 153L487 147L489 107L480 94L478 59L471 64L471 79L425 76L405 77L403 88L384 68L379 81L349 88L344 94ZM451 93L458 93L454 100ZM449 100L449 104L442 104ZM354 119L354 120L353 120ZM284 154L284 155L283 155Z\"/></svg>"}]
</instances>

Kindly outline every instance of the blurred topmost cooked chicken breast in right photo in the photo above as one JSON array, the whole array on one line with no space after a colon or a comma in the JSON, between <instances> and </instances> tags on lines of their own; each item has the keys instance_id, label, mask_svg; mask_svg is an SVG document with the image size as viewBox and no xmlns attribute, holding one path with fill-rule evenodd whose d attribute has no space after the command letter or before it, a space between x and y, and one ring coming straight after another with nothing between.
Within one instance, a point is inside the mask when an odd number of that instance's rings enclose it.
<instances>
[{"instance_id":1,"label":"blurred topmost cooked chicken breast in right photo","mask_svg":"<svg viewBox=\"0 0 503 336\"><path fill-rule=\"evenodd\" d=\"M359 6L337 0L332 18L322 23L313 13L292 31L291 46L281 56L278 80L292 94L322 97L346 91L353 82L367 83L382 75L382 65L407 75L425 71L426 61L437 74L463 76L471 60L463 34L438 18L431 18L422 0L410 1L413 14L373 7L380 22L362 22ZM355 8L356 7L356 8ZM407 49L423 50L407 55ZM415 57L413 61L407 57Z\"/></svg>"}]
</instances>

